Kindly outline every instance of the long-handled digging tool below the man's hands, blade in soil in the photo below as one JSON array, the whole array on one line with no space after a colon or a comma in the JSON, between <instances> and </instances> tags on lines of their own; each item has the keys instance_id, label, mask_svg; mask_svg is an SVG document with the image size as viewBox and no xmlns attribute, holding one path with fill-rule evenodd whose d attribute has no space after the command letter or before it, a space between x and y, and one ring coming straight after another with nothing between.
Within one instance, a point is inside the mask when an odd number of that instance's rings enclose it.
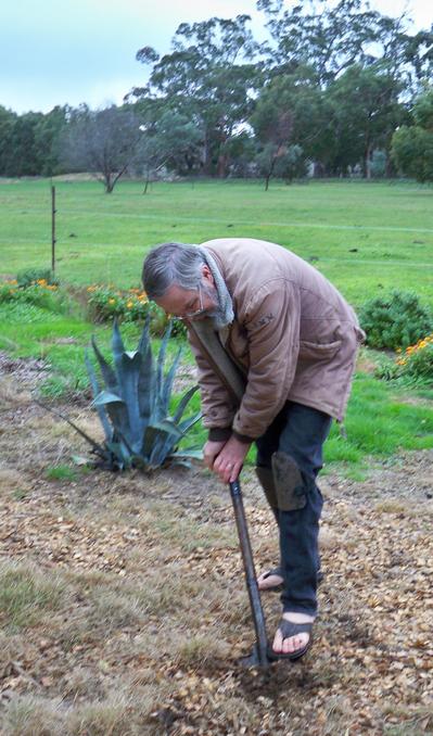
<instances>
[{"instance_id":1,"label":"long-handled digging tool below the man's hands, blade in soil","mask_svg":"<svg viewBox=\"0 0 433 736\"><path fill-rule=\"evenodd\" d=\"M229 485L234 510L234 519L238 528L239 542L241 546L246 588L250 596L251 612L253 616L254 629L256 633L256 643L252 653L249 657L243 657L240 660L240 664L242 667L259 667L265 669L270 665L271 661L267 655L268 637L266 634L266 622L254 569L253 553L251 549L245 511L243 508L242 491L239 479L232 483L229 483Z\"/></svg>"}]
</instances>

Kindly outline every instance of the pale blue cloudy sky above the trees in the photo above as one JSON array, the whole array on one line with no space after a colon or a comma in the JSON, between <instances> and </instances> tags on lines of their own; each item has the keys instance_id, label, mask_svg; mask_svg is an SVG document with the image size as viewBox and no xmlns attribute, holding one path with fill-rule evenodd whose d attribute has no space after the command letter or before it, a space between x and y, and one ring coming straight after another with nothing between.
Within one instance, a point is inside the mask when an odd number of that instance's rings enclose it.
<instances>
[{"instance_id":1,"label":"pale blue cloudy sky above the trees","mask_svg":"<svg viewBox=\"0 0 433 736\"><path fill-rule=\"evenodd\" d=\"M17 113L56 104L119 103L145 81L135 56L160 53L179 23L247 13L257 36L264 15L255 0L0 0L0 105ZM381 13L405 8L413 30L430 28L432 0L371 0Z\"/></svg>"}]
</instances>

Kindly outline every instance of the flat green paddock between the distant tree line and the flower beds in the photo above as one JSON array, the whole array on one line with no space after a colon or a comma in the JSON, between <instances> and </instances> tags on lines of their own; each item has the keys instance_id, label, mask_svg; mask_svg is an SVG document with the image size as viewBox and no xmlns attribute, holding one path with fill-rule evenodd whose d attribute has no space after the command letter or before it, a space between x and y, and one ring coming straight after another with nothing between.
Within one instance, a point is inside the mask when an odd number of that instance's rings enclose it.
<instances>
[{"instance_id":1,"label":"flat green paddock between the distant tree line and the flower beds","mask_svg":"<svg viewBox=\"0 0 433 736\"><path fill-rule=\"evenodd\" d=\"M433 188L311 181L54 181L58 272L76 283L137 285L145 252L167 240L251 237L290 248L359 306L391 288L433 305ZM0 182L0 274L50 263L50 181Z\"/></svg>"}]
</instances>

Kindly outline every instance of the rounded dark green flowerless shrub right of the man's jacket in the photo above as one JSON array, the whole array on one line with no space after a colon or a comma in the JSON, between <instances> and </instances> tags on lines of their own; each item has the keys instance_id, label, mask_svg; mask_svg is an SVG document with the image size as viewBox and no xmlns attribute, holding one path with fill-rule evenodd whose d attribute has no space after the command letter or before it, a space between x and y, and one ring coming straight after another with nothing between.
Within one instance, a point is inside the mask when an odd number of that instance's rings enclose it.
<instances>
[{"instance_id":1,"label":"rounded dark green flowerless shrub right of the man's jacket","mask_svg":"<svg viewBox=\"0 0 433 736\"><path fill-rule=\"evenodd\" d=\"M408 347L433 329L431 312L417 294L392 291L365 303L359 321L370 347Z\"/></svg>"}]
</instances>

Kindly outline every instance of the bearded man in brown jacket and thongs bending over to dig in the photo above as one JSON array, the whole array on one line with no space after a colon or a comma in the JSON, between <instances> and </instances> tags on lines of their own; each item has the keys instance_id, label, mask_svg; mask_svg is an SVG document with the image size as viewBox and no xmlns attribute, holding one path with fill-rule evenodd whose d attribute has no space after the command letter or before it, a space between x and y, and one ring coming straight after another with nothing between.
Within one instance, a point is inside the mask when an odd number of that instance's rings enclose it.
<instances>
[{"instance_id":1,"label":"bearded man in brown jacket and thongs bending over to dig","mask_svg":"<svg viewBox=\"0 0 433 736\"><path fill-rule=\"evenodd\" d=\"M272 653L297 659L317 614L322 497L316 477L332 417L343 418L364 333L319 271L265 241L165 243L145 258L143 285L188 325L209 430L207 467L224 483L234 481L256 444L281 556L258 584L282 584Z\"/></svg>"}]
</instances>

